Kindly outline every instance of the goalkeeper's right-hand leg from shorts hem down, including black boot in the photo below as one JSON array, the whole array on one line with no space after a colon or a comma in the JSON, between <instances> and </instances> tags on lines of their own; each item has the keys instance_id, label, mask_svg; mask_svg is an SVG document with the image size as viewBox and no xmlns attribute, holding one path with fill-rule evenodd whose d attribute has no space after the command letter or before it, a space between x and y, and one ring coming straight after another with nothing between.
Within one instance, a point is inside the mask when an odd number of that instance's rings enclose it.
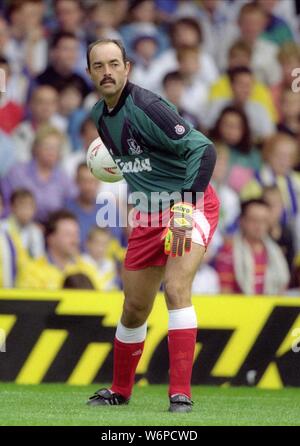
<instances>
[{"instance_id":1,"label":"goalkeeper's right-hand leg from shorts hem down, including black boot","mask_svg":"<svg viewBox=\"0 0 300 446\"><path fill-rule=\"evenodd\" d=\"M190 382L197 336L197 318L191 302L191 288L204 253L204 246L193 243L190 253L183 257L169 257L166 265L165 298L169 310L170 410L183 412L191 410ZM179 404L176 404L176 401Z\"/></svg>"}]
</instances>

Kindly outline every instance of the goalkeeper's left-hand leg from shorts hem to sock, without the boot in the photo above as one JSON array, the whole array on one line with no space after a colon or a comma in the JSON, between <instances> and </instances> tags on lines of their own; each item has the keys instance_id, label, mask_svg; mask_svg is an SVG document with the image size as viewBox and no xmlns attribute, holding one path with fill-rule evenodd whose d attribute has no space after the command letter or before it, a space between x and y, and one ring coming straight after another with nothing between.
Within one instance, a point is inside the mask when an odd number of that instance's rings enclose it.
<instances>
[{"instance_id":1,"label":"goalkeeper's left-hand leg from shorts hem to sock, without the boot","mask_svg":"<svg viewBox=\"0 0 300 446\"><path fill-rule=\"evenodd\" d=\"M139 271L124 270L125 301L114 342L112 392L129 399L135 371L142 356L147 333L146 321L159 290L163 267Z\"/></svg>"}]
</instances>

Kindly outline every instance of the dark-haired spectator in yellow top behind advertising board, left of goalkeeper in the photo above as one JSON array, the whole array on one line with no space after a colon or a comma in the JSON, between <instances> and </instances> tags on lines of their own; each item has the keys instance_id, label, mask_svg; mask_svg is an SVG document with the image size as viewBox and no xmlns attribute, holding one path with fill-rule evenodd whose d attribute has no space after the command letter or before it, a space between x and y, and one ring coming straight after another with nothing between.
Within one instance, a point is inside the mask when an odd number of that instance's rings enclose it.
<instances>
[{"instance_id":1,"label":"dark-haired spectator in yellow top behind advertising board, left of goalkeeper","mask_svg":"<svg viewBox=\"0 0 300 446\"><path fill-rule=\"evenodd\" d=\"M57 290L62 288L69 275L84 274L95 289L101 289L97 270L79 255L79 226L75 216L68 211L57 211L49 216L46 224L45 256L31 260L21 268L16 286Z\"/></svg>"}]
</instances>

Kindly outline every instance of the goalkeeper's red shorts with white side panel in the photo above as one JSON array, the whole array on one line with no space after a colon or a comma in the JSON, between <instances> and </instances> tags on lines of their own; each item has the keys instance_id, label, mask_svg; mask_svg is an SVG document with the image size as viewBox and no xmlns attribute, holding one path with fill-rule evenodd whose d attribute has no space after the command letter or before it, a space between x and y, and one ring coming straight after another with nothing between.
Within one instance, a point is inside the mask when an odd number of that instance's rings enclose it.
<instances>
[{"instance_id":1,"label":"goalkeeper's red shorts with white side panel","mask_svg":"<svg viewBox=\"0 0 300 446\"><path fill-rule=\"evenodd\" d=\"M193 242L208 246L218 225L219 207L218 197L209 185L204 193L203 212L195 216ZM128 240L125 268L135 271L149 266L164 266L168 260L162 240L164 230L165 227L135 227Z\"/></svg>"}]
</instances>

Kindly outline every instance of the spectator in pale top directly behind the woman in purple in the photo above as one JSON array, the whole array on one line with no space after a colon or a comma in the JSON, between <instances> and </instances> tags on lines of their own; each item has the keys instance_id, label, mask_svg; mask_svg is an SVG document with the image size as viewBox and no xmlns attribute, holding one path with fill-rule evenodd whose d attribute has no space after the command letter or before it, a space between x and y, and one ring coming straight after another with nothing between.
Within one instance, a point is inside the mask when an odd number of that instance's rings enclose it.
<instances>
[{"instance_id":1,"label":"spectator in pale top directly behind the woman in purple","mask_svg":"<svg viewBox=\"0 0 300 446\"><path fill-rule=\"evenodd\" d=\"M12 138L18 161L31 159L31 148L37 130L50 125L61 132L67 129L67 122L58 115L58 93L51 85L41 85L32 92L29 104L29 117L15 128ZM66 138L63 145L63 155L71 150Z\"/></svg>"}]
</instances>

